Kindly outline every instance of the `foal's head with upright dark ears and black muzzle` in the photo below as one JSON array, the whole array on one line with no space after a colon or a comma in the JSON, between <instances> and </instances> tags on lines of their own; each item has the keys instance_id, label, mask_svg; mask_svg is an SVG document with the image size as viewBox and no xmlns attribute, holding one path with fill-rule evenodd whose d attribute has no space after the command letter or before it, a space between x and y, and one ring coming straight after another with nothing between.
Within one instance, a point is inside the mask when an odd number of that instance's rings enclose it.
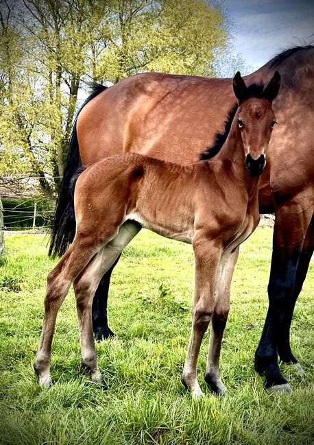
<instances>
[{"instance_id":1,"label":"foal's head with upright dark ears and black muzzle","mask_svg":"<svg viewBox=\"0 0 314 445\"><path fill-rule=\"evenodd\" d=\"M239 108L234 119L241 135L245 152L245 166L252 176L260 176L266 165L266 152L271 131L276 123L271 107L280 88L278 71L258 97L251 97L239 71L233 79L234 94L239 100Z\"/></svg>"}]
</instances>

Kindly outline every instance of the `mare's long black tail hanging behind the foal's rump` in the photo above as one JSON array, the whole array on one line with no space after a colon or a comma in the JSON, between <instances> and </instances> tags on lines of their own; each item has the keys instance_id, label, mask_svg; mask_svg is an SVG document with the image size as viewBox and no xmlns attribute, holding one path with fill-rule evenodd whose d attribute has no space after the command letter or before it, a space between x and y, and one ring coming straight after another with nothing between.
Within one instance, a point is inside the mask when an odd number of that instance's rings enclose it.
<instances>
[{"instance_id":1,"label":"mare's long black tail hanging behind the foal's rump","mask_svg":"<svg viewBox=\"0 0 314 445\"><path fill-rule=\"evenodd\" d=\"M82 108L94 97L106 90L106 86L94 84L92 87L92 93L88 96L84 104L80 108L77 116L80 114ZM51 229L51 241L49 245L49 256L63 255L69 247L69 244L73 241L75 235L75 215L74 215L74 200L73 200L73 175L77 172L78 167L82 165L80 159L80 152L77 140L76 123L77 116L73 124L73 130L69 141L69 151L67 154L67 160L64 166L64 175L60 191L58 194L58 200L56 204L56 211L53 218L53 226ZM77 175L76 179L77 179ZM72 186L71 186L72 183ZM72 191L71 191L72 189Z\"/></svg>"}]
</instances>

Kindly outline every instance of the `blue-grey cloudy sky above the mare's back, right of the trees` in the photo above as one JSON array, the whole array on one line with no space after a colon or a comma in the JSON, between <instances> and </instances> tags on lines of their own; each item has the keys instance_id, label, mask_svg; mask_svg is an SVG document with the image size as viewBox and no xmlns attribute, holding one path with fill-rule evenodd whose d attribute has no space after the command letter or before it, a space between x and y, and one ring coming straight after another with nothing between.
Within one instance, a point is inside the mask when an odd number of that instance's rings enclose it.
<instances>
[{"instance_id":1,"label":"blue-grey cloudy sky above the mare's back, right of the trees","mask_svg":"<svg viewBox=\"0 0 314 445\"><path fill-rule=\"evenodd\" d=\"M225 0L234 47L253 70L284 49L314 41L314 1Z\"/></svg>"}]
</instances>

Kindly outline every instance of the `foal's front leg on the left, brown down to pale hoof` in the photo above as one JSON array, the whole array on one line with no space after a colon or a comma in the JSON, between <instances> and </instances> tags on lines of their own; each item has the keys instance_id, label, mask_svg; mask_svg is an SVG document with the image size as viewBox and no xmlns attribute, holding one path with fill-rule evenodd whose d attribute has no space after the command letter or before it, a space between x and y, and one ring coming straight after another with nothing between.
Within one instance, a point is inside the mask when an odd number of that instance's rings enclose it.
<instances>
[{"instance_id":1,"label":"foal's front leg on the left, brown down to pale hoof","mask_svg":"<svg viewBox=\"0 0 314 445\"><path fill-rule=\"evenodd\" d=\"M197 357L215 306L215 276L221 256L220 248L206 238L193 239L195 255L195 291L192 330L181 381L192 396L203 396L197 381Z\"/></svg>"}]
</instances>

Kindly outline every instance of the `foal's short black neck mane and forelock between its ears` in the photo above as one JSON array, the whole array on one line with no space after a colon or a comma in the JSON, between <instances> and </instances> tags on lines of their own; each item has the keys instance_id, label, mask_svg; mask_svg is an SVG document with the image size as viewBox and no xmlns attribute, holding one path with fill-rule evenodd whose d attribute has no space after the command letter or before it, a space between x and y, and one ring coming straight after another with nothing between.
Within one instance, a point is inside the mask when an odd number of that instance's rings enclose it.
<instances>
[{"instance_id":1,"label":"foal's short black neck mane and forelock between its ears","mask_svg":"<svg viewBox=\"0 0 314 445\"><path fill-rule=\"evenodd\" d=\"M251 84L250 86L247 86L247 99L249 99L250 97L261 98L262 94L263 94L263 90L264 90L263 83ZM224 131L221 133L217 132L215 134L215 139L214 139L213 145L210 145L210 147L207 147L206 150L200 154L200 160L211 159L214 156L216 156L216 154L218 154L220 152L220 149L226 142L226 139L230 132L231 124L232 124L234 116L237 112L237 109L238 109L237 103L234 104L232 106L232 108L230 108L228 115L226 116Z\"/></svg>"}]
</instances>

